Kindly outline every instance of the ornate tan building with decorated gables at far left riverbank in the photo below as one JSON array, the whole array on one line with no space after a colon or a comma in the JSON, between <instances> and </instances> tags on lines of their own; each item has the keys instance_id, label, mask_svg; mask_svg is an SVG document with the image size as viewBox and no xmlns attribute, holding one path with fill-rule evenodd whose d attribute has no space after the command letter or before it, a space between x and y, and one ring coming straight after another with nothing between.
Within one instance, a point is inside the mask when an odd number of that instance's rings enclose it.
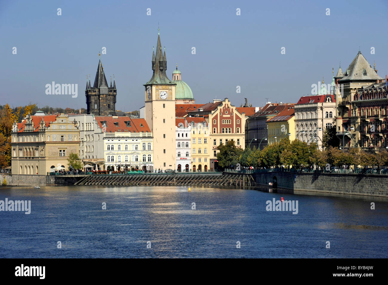
<instances>
[{"instance_id":1,"label":"ornate tan building with decorated gables at far left riverbank","mask_svg":"<svg viewBox=\"0 0 388 285\"><path fill-rule=\"evenodd\" d=\"M68 169L70 153L78 154L80 132L64 114L38 111L12 127L12 174L46 175L52 169Z\"/></svg>"}]
</instances>

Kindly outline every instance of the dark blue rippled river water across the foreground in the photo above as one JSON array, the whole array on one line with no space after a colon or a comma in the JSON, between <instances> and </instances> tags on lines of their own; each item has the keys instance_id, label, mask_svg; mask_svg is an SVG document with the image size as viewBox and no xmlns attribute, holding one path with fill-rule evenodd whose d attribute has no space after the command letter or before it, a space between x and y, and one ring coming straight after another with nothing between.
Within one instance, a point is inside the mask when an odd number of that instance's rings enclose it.
<instances>
[{"instance_id":1,"label":"dark blue rippled river water across the foreground","mask_svg":"<svg viewBox=\"0 0 388 285\"><path fill-rule=\"evenodd\" d=\"M262 190L0 188L0 200L31 200L29 215L0 212L0 257L386 257L388 203ZM280 197L298 214L267 212Z\"/></svg>"}]
</instances>

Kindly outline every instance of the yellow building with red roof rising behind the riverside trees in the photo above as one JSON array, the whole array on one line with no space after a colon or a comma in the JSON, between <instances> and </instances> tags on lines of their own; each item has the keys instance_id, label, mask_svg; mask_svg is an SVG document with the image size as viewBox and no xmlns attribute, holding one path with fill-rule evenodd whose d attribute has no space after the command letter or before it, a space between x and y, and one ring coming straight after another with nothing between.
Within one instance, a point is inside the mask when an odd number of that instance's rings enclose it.
<instances>
[{"instance_id":1,"label":"yellow building with red roof rising behind the riverside trees","mask_svg":"<svg viewBox=\"0 0 388 285\"><path fill-rule=\"evenodd\" d=\"M290 141L295 139L294 106L281 111L276 116L267 120L268 144L280 142L284 137Z\"/></svg>"}]
</instances>

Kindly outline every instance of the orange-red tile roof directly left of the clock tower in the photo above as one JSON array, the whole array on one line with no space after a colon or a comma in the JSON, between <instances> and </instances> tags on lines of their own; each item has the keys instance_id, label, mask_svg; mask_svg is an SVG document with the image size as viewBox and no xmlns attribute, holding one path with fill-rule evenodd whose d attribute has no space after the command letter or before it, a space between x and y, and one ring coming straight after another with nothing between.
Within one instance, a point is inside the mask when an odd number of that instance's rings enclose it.
<instances>
[{"instance_id":1,"label":"orange-red tile roof directly left of the clock tower","mask_svg":"<svg viewBox=\"0 0 388 285\"><path fill-rule=\"evenodd\" d=\"M95 116L95 119L101 129L102 122L106 122L105 132L151 132L145 119L128 116ZM125 122L130 122L130 125L127 126ZM102 130L104 132L104 129Z\"/></svg>"}]
</instances>

